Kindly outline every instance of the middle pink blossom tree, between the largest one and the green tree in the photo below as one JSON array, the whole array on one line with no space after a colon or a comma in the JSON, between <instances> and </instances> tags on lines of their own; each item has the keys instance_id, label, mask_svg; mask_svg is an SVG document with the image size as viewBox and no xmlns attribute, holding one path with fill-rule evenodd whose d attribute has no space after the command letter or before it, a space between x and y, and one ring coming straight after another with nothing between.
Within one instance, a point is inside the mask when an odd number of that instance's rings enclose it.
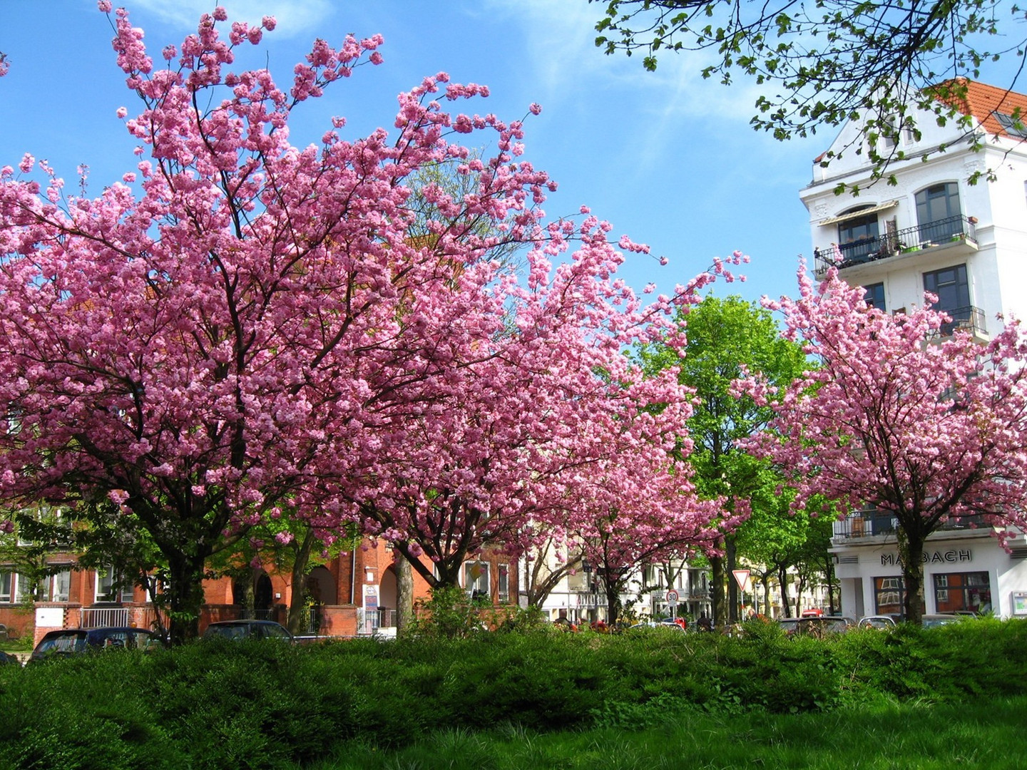
<instances>
[{"instance_id":1,"label":"middle pink blossom tree, between the largest one and the green tree","mask_svg":"<svg viewBox=\"0 0 1027 770\"><path fill-rule=\"evenodd\" d=\"M390 541L431 586L455 585L467 556L488 546L520 555L554 533L591 537L582 522L597 510L608 517L611 505L615 536L636 548L655 547L657 530L659 547L708 540L711 507L695 500L690 468L672 454L693 391L676 369L646 378L622 352L643 337L683 338L660 322L661 310L654 316L621 284L597 281L619 259L605 229L587 217L577 231L585 247L570 262L511 285L505 312L476 321L489 341L452 375L451 397L390 425L403 435L392 444L398 454L369 457L364 486L352 471L339 479L365 531ZM549 233L545 249L565 246ZM528 255L536 268L539 259ZM675 302L696 302L710 277L679 287Z\"/></svg>"}]
</instances>

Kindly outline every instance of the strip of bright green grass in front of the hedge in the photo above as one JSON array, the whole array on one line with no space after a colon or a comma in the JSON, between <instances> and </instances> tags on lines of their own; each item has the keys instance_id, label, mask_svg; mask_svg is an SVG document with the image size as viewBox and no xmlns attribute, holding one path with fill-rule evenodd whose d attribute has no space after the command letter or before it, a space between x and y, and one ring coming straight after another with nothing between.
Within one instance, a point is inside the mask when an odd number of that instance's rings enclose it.
<instances>
[{"instance_id":1,"label":"strip of bright green grass in front of the hedge","mask_svg":"<svg viewBox=\"0 0 1027 770\"><path fill-rule=\"evenodd\" d=\"M309 770L1014 770L1023 767L1027 698L973 705L879 702L828 714L668 715L646 730L535 733L515 725L459 727L383 752L336 746Z\"/></svg>"}]
</instances>

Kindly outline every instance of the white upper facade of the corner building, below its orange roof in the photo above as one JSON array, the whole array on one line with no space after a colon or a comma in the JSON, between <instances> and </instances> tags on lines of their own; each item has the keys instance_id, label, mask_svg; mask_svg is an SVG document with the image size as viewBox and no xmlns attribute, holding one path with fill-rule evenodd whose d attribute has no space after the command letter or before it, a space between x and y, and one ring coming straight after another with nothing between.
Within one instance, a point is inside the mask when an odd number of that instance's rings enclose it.
<instances>
[{"instance_id":1,"label":"white upper facade of the corner building, below its orange roof","mask_svg":"<svg viewBox=\"0 0 1027 770\"><path fill-rule=\"evenodd\" d=\"M965 266L965 294L962 286L946 285L954 291L944 294L961 295L958 307L946 309L976 309L954 320L991 336L1001 328L998 314L1027 315L1027 148L981 127L977 133L984 147L972 151L955 121L940 127L925 113L917 126L919 142L911 131L900 131L899 149L907 159L888 167L893 186L884 180L872 183L866 152L854 151L862 143L853 123L831 146L841 156L827 167L814 163L813 180L800 192L810 215L814 255L820 255L814 269L823 274L840 252L841 277L864 286L883 284L879 296L890 312L920 305L931 275ZM947 149L939 152L941 146ZM968 183L973 174L988 169L994 170L994 181ZM860 194L836 195L842 183L858 187ZM952 299L943 296L939 304Z\"/></svg>"}]
</instances>

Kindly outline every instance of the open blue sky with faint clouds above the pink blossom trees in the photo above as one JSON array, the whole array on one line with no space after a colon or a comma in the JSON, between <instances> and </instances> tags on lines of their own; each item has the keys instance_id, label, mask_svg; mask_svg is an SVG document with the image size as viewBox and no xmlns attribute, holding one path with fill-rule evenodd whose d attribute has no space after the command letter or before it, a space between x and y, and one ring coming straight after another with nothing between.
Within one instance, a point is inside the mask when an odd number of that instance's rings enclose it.
<instances>
[{"instance_id":1,"label":"open blue sky with faint clouds above the pink blossom trees","mask_svg":"<svg viewBox=\"0 0 1027 770\"><path fill-rule=\"evenodd\" d=\"M115 2L115 5L118 3ZM132 24L146 30L151 55L179 44L213 3L126 0ZM350 136L390 126L395 94L425 75L484 83L491 95L473 111L511 120L532 102L526 158L560 183L550 217L582 204L613 224L613 235L648 243L655 258L633 255L622 270L636 290L650 281L670 292L741 249L753 262L746 283L719 284L718 295L757 299L793 294L809 227L798 191L811 160L834 137L775 142L749 126L757 90L739 81L703 81L691 54L664 54L656 73L638 57L597 49L593 25L602 5L584 0L226 0L229 18L275 15L254 66L269 65L280 83L315 37L333 44L352 32L381 33L385 63L365 67L325 98L301 106L292 140L317 142L332 115ZM45 7L47 12L41 12ZM0 164L26 152L46 158L72 187L76 167L90 167L89 190L135 167L118 107L139 102L124 86L110 47L112 31L93 0L3 0L0 50L10 72L0 78ZM250 49L251 51L254 49ZM471 108L464 108L471 109ZM488 148L486 148L488 149Z\"/></svg>"}]
</instances>

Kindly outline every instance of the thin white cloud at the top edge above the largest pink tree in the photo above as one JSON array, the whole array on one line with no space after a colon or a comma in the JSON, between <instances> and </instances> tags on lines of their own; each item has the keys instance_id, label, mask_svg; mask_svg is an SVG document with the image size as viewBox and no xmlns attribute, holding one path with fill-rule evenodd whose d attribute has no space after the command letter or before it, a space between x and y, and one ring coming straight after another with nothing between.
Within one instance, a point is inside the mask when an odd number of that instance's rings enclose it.
<instances>
[{"instance_id":1,"label":"thin white cloud at the top edge above the largest pink tree","mask_svg":"<svg viewBox=\"0 0 1027 770\"><path fill-rule=\"evenodd\" d=\"M279 38L309 34L332 15L330 0L134 0L132 7L143 8L163 22L186 30L196 29L196 22L223 5L232 21L257 24L263 16L274 16Z\"/></svg>"}]
</instances>

